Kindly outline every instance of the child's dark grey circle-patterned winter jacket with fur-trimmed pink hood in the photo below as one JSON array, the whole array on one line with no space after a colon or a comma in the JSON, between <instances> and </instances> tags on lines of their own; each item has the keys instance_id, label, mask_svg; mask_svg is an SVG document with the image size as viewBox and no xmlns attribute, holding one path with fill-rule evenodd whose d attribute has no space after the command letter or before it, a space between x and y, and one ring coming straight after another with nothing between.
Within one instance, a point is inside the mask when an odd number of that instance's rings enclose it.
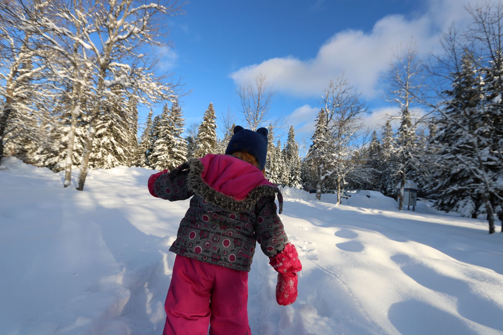
<instances>
[{"instance_id":1,"label":"child's dark grey circle-patterned winter jacket with fur-trimmed pink hood","mask_svg":"<svg viewBox=\"0 0 503 335\"><path fill-rule=\"evenodd\" d=\"M254 165L230 155L191 158L177 169L150 176L154 197L170 201L192 197L180 222L175 254L235 270L250 271L256 241L268 257L280 253L288 238L276 214L283 197Z\"/></svg>"}]
</instances>

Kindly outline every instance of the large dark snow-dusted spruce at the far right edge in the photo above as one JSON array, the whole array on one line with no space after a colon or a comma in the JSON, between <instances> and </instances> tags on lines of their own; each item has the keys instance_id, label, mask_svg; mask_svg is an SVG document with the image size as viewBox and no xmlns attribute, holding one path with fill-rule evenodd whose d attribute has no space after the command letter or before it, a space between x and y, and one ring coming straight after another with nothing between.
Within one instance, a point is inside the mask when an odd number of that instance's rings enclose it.
<instances>
[{"instance_id":1,"label":"large dark snow-dusted spruce at the far right edge","mask_svg":"<svg viewBox=\"0 0 503 335\"><path fill-rule=\"evenodd\" d=\"M492 233L493 208L498 204L494 200L500 197L498 170L494 169L499 157L493 151L493 120L488 113L493 101L488 99L473 54L465 53L458 68L438 110L436 206L471 216L483 205Z\"/></svg>"}]
</instances>

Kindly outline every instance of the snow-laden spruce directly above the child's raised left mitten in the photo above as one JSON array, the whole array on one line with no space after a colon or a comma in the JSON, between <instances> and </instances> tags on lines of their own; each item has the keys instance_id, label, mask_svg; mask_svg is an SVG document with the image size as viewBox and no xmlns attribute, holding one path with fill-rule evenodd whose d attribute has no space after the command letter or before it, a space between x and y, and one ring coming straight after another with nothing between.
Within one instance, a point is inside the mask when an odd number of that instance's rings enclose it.
<instances>
[{"instance_id":1,"label":"snow-laden spruce directly above the child's raised left mitten","mask_svg":"<svg viewBox=\"0 0 503 335\"><path fill-rule=\"evenodd\" d=\"M162 171L167 169L172 160L172 144L176 142L175 129L171 120L170 109L164 105L162 113L156 122L156 140L153 145L151 158L153 169Z\"/></svg>"}]
</instances>

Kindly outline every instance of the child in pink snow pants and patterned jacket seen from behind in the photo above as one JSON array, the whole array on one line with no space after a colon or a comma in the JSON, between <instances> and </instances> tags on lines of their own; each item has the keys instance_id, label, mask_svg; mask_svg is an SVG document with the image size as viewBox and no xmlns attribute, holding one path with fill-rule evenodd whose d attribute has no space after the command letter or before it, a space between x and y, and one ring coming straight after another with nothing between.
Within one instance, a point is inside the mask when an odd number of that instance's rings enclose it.
<instances>
[{"instance_id":1,"label":"child in pink snow pants and patterned jacket seen from behind","mask_svg":"<svg viewBox=\"0 0 503 335\"><path fill-rule=\"evenodd\" d=\"M192 197L170 251L177 254L164 308L164 334L250 335L248 271L258 241L278 272L276 300L297 298L302 269L279 213L283 197L265 177L267 129L234 128L225 155L191 158L148 179L154 197Z\"/></svg>"}]
</instances>

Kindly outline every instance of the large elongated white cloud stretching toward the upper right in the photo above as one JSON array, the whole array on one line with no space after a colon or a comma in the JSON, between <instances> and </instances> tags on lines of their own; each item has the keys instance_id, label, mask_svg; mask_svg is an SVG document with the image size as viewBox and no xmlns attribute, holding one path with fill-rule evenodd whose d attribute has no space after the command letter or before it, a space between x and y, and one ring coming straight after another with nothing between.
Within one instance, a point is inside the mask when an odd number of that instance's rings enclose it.
<instances>
[{"instance_id":1,"label":"large elongated white cloud stretching toward the upper right","mask_svg":"<svg viewBox=\"0 0 503 335\"><path fill-rule=\"evenodd\" d=\"M323 92L330 79L344 72L365 98L376 98L381 94L380 75L388 68L393 48L413 38L420 52L431 51L438 45L441 29L453 20L466 20L465 3L467 0L430 0L429 10L422 16L407 20L402 15L390 15L377 21L368 33L347 30L333 35L315 58L271 58L242 67L231 77L236 83L244 83L263 73L277 91L313 97Z\"/></svg>"}]
</instances>

